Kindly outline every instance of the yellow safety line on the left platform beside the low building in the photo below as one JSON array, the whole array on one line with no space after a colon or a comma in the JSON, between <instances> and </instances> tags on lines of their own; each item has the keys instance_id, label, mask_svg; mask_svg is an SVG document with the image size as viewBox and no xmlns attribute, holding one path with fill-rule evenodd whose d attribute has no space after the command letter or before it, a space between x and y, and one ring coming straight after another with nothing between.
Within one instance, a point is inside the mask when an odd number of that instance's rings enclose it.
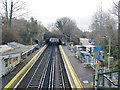
<instances>
[{"instance_id":1,"label":"yellow safety line on the left platform beside the low building","mask_svg":"<svg viewBox=\"0 0 120 90\"><path fill-rule=\"evenodd\" d=\"M3 90L6 90L9 88L13 82L20 76L20 74L28 67L28 65L38 56L38 54L46 47L46 45L16 74L15 77L3 88Z\"/></svg>"}]
</instances>

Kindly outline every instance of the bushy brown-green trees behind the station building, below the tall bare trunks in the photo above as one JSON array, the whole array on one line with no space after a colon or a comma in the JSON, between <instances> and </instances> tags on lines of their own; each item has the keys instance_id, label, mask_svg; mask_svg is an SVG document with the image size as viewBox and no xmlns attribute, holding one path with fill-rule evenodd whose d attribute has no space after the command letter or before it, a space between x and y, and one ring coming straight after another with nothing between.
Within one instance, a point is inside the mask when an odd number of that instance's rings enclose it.
<instances>
[{"instance_id":1,"label":"bushy brown-green trees behind the station building, below the tall bare trunks","mask_svg":"<svg viewBox=\"0 0 120 90\"><path fill-rule=\"evenodd\" d=\"M33 17L30 20L13 18L12 26L2 27L2 43L19 42L23 44L34 44L35 40L39 40L42 44L43 33L49 32L43 25L38 23Z\"/></svg>"}]
</instances>

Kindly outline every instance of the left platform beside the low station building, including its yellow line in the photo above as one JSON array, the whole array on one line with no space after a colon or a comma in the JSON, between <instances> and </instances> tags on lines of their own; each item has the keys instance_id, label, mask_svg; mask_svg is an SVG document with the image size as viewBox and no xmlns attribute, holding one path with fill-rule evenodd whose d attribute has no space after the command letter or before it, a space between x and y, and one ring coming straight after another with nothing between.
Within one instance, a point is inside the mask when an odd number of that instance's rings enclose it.
<instances>
[{"instance_id":1,"label":"left platform beside the low station building, including its yellow line","mask_svg":"<svg viewBox=\"0 0 120 90\"><path fill-rule=\"evenodd\" d=\"M44 51L44 49L43 49L44 47L41 47L39 50L37 50L33 54L29 55L23 62L21 62L20 64L18 64L16 66L14 71L11 71L10 73L8 73L4 77L2 77L2 88L5 88L5 86L8 86L9 84L11 86L12 83L14 83L14 81L17 81L17 79L21 78L21 76L24 75L24 73L27 71L27 69L36 61L36 58L38 58L38 56L40 56L40 54ZM17 76L17 78L15 78L16 76ZM12 83L10 83L11 81L12 81ZM7 88L11 88L10 86Z\"/></svg>"}]
</instances>

